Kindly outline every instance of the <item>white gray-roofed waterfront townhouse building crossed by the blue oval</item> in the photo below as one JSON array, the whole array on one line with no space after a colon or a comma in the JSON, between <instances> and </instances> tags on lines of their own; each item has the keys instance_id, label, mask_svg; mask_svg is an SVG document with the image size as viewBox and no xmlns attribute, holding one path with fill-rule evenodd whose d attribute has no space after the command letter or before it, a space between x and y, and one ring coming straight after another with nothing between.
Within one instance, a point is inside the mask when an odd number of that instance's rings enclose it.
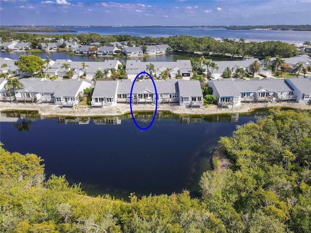
<instances>
[{"instance_id":1,"label":"white gray-roofed waterfront townhouse building crossed by the blue oval","mask_svg":"<svg viewBox=\"0 0 311 233\"><path fill-rule=\"evenodd\" d=\"M117 103L132 104L155 103L158 104L177 102L180 106L202 106L203 95L199 81L170 80L156 82L156 90L153 82L142 81L135 83L131 93L133 82L121 81L97 81L92 95L91 105L110 106ZM157 96L156 96L157 94Z\"/></svg>"}]
</instances>

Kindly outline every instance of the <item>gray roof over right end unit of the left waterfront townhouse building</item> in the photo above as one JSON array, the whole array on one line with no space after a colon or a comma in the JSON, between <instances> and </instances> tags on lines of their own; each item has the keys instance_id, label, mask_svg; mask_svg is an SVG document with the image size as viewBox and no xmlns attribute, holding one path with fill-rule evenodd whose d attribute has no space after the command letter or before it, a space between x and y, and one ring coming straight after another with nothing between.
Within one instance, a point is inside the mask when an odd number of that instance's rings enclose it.
<instances>
[{"instance_id":1,"label":"gray roof over right end unit of the left waterfront townhouse building","mask_svg":"<svg viewBox=\"0 0 311 233\"><path fill-rule=\"evenodd\" d=\"M60 83L57 90L54 93L55 97L73 97L77 94L81 84L88 80L72 79L69 81L57 82ZM89 81L87 82L89 83Z\"/></svg>"}]
</instances>

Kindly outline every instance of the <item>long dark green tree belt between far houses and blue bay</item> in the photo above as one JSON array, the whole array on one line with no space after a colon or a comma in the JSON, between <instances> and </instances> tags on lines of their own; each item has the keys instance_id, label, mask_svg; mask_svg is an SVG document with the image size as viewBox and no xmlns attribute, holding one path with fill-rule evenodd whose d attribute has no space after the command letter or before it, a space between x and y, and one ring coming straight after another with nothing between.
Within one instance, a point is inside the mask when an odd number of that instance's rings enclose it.
<instances>
[{"instance_id":1,"label":"long dark green tree belt between far houses and blue bay","mask_svg":"<svg viewBox=\"0 0 311 233\"><path fill-rule=\"evenodd\" d=\"M1 30L2 41L19 40L23 42L31 42L32 48L40 47L40 43L56 42L63 38L69 40L76 38L83 45L90 45L99 42L101 45L107 46L108 42L126 41L127 44L135 44L137 46L168 44L173 50L182 51L200 51L205 54L212 53L217 55L231 54L244 56L254 56L264 58L266 56L275 57L276 54L281 57L292 57L298 53L295 46L281 41L264 41L245 43L235 43L232 40L223 39L216 41L212 37L195 37L190 35L175 35L168 37L151 37L151 36L132 36L132 35L100 35L97 33L81 33L81 34L30 34L30 33L14 33ZM52 37L52 40L45 40L45 37Z\"/></svg>"}]
</instances>

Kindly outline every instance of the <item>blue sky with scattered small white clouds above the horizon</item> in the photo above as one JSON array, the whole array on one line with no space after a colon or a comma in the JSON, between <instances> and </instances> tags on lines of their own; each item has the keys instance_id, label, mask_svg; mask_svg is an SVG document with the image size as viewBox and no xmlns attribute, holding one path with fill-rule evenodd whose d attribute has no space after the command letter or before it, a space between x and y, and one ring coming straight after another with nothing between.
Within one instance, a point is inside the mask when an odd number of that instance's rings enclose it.
<instances>
[{"instance_id":1,"label":"blue sky with scattered small white clouds above the horizon","mask_svg":"<svg viewBox=\"0 0 311 233\"><path fill-rule=\"evenodd\" d=\"M311 0L0 0L0 25L311 24Z\"/></svg>"}]
</instances>

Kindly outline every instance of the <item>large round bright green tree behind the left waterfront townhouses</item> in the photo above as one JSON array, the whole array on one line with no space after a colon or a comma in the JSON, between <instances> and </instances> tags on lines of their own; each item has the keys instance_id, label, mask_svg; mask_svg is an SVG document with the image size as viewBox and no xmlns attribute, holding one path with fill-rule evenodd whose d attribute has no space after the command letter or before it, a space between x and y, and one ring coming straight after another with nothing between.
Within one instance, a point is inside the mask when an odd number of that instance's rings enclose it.
<instances>
[{"instance_id":1,"label":"large round bright green tree behind the left waterfront townhouses","mask_svg":"<svg viewBox=\"0 0 311 233\"><path fill-rule=\"evenodd\" d=\"M14 64L19 70L29 73L33 77L34 73L40 71L40 68L43 67L44 61L36 55L20 55Z\"/></svg>"}]
</instances>

